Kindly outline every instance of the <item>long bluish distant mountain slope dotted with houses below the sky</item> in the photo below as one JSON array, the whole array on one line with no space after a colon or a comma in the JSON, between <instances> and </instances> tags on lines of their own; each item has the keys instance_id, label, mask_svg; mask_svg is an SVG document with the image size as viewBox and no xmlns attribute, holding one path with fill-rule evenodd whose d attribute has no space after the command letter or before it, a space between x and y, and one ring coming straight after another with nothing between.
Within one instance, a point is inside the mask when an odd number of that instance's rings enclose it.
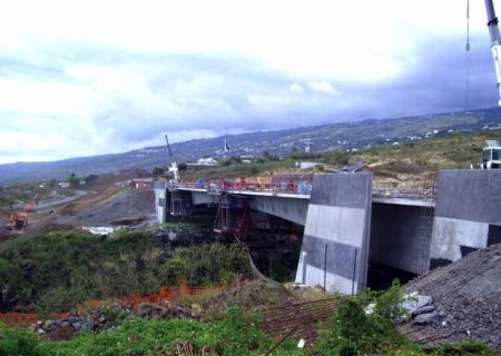
<instances>
[{"instance_id":1,"label":"long bluish distant mountain slope dotted with houses below the sky","mask_svg":"<svg viewBox=\"0 0 501 356\"><path fill-rule=\"evenodd\" d=\"M322 126L299 127L275 131L229 135L196 139L170 146L178 162L200 157L223 157L224 141L230 155L262 156L264 151L286 156L292 150L312 152L333 149L360 149L382 142L404 142L446 136L452 131L473 132L501 129L501 108L466 112L451 112L412 118L364 120ZM63 179L71 172L78 176L114 172L125 169L151 169L170 161L165 146L146 147L124 154L70 158L51 162L18 162L0 165L0 184Z\"/></svg>"}]
</instances>

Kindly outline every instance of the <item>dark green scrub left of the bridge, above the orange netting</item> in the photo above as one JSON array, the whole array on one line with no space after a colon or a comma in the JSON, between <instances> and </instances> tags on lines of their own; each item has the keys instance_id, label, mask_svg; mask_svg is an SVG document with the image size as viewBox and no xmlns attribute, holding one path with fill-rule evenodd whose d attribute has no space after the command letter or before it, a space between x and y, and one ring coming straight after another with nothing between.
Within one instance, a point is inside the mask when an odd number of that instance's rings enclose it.
<instances>
[{"instance_id":1,"label":"dark green scrub left of the bridge, above the orange netting","mask_svg":"<svg viewBox=\"0 0 501 356\"><path fill-rule=\"evenodd\" d=\"M237 245L171 248L151 234L98 238L50 233L14 240L0 256L2 308L66 312L87 299L150 293L161 286L209 285L249 274Z\"/></svg>"}]
</instances>

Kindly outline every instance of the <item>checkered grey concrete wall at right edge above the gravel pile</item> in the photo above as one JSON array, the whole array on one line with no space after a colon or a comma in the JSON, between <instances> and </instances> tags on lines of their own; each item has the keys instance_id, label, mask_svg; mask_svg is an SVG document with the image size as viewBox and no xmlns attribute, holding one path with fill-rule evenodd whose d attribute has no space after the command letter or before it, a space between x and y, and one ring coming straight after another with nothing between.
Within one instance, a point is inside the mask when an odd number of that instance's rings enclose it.
<instances>
[{"instance_id":1,"label":"checkered grey concrete wall at right edge above the gravel pile","mask_svg":"<svg viewBox=\"0 0 501 356\"><path fill-rule=\"evenodd\" d=\"M494 243L501 229L501 170L441 170L431 268Z\"/></svg>"}]
</instances>

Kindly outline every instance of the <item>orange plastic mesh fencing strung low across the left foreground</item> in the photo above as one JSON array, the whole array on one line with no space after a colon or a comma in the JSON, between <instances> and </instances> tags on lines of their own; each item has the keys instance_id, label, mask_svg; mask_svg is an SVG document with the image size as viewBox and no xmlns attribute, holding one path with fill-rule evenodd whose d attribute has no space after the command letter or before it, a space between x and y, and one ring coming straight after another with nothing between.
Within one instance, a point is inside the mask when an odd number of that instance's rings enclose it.
<instances>
[{"instance_id":1,"label":"orange plastic mesh fencing strung low across the left foreground","mask_svg":"<svg viewBox=\"0 0 501 356\"><path fill-rule=\"evenodd\" d=\"M168 286L161 287L160 290L151 294L130 294L128 296L118 297L108 300L88 300L85 304L95 306L98 308L99 306L106 303L119 303L124 306L131 307L136 309L143 303L151 303L151 304L161 304L161 303L170 303L176 300L178 297L183 296L195 296L195 295L204 295L204 294L218 294L225 289L228 289L234 286L244 285L245 280L234 281L232 285L215 285L207 287L193 287L187 285L179 286ZM51 315L53 319L63 319L70 316L69 313L59 313ZM0 322L7 324L11 327L21 327L29 326L37 322L37 314L35 313L0 313Z\"/></svg>"}]
</instances>

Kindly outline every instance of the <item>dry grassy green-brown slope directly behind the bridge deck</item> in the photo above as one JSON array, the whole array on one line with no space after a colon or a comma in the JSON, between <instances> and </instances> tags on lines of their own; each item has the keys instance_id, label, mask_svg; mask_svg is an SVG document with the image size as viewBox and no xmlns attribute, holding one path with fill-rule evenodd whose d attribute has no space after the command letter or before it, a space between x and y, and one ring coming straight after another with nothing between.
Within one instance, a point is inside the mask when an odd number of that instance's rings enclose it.
<instances>
[{"instance_id":1,"label":"dry grassy green-brown slope directly behind the bridge deck","mask_svg":"<svg viewBox=\"0 0 501 356\"><path fill-rule=\"evenodd\" d=\"M277 159L277 157L268 155L254 164L242 164L237 158L230 158L224 167L186 171L183 178L186 180L195 180L199 177L214 179L294 171L296 170L294 162L297 160L320 161L333 168L363 160L367 165L374 165L370 169L376 177L382 178L397 178L402 174L421 175L445 168L468 169L470 164L479 162L487 139L501 139L501 132L488 131L475 135L452 132L444 138L410 141L396 146L393 144L375 145L355 151L335 149L326 152L305 154L295 150L285 159Z\"/></svg>"}]
</instances>

